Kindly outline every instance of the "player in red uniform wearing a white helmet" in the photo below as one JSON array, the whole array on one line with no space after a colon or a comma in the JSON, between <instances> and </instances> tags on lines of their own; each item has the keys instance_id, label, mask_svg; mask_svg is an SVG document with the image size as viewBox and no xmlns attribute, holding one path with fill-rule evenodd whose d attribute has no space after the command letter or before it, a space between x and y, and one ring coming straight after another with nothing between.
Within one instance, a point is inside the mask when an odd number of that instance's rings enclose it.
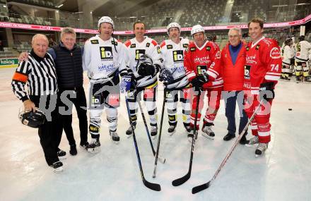
<instances>
[{"instance_id":1,"label":"player in red uniform wearing a white helmet","mask_svg":"<svg viewBox=\"0 0 311 201\"><path fill-rule=\"evenodd\" d=\"M220 69L221 51L216 43L206 40L204 29L201 25L194 25L191 34L194 37L194 42L190 42L188 49L185 51L184 68L187 78L195 90L203 91L200 96L196 127L199 129L200 111L203 108L204 95L206 93L209 108L206 110L204 117L202 135L206 138L213 139L215 133L213 133L211 127L219 109L221 91L223 90L223 78L221 78L219 71L214 71L213 68ZM194 95L190 122L192 128L194 128L194 119L196 116L196 98L197 95ZM188 137L192 138L192 135L189 134Z\"/></svg>"}]
</instances>

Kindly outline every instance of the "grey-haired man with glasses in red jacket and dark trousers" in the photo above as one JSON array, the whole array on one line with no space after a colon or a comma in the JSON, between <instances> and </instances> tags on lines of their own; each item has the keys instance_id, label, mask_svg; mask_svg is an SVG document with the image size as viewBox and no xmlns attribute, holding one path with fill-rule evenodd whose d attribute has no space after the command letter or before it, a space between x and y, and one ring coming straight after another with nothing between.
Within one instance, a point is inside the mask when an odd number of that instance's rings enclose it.
<instances>
[{"instance_id":1,"label":"grey-haired man with glasses in red jacket and dark trousers","mask_svg":"<svg viewBox=\"0 0 311 201\"><path fill-rule=\"evenodd\" d=\"M247 123L247 115L243 106L243 81L245 66L245 44L241 41L240 28L231 28L228 32L229 42L221 51L221 68L223 72L223 99L225 100L225 116L228 120L228 134L223 140L228 141L235 138L235 105L240 110L239 133ZM247 135L247 132L245 133ZM245 135L240 144L246 144Z\"/></svg>"}]
</instances>

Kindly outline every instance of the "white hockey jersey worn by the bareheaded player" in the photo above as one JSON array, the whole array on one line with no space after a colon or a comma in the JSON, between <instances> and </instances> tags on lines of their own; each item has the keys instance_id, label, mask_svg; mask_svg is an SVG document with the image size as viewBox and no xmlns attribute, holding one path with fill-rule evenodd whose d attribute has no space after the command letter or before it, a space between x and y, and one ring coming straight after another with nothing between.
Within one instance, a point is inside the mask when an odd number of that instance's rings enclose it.
<instances>
[{"instance_id":1,"label":"white hockey jersey worn by the bareheaded player","mask_svg":"<svg viewBox=\"0 0 311 201\"><path fill-rule=\"evenodd\" d=\"M150 87L155 86L158 83L157 75L149 75L143 77L137 73L139 57L146 54L151 58L154 64L158 64L161 68L163 66L163 59L160 57L160 47L154 39L145 36L143 42L138 42L136 38L129 39L124 42L127 49L127 61L128 66L134 72L137 80L137 87Z\"/></svg>"}]
</instances>

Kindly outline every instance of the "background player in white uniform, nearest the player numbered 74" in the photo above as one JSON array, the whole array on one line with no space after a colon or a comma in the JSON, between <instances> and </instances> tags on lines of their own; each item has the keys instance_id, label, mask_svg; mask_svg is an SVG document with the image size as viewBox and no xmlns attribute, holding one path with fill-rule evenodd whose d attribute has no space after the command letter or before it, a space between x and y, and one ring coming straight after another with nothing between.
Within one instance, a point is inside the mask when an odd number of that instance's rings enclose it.
<instances>
[{"instance_id":1,"label":"background player in white uniform, nearest the player numbered 74","mask_svg":"<svg viewBox=\"0 0 311 201\"><path fill-rule=\"evenodd\" d=\"M293 73L293 65L295 64L295 51L292 47L293 39L286 39L282 48L282 80L291 80L289 77Z\"/></svg>"}]
</instances>

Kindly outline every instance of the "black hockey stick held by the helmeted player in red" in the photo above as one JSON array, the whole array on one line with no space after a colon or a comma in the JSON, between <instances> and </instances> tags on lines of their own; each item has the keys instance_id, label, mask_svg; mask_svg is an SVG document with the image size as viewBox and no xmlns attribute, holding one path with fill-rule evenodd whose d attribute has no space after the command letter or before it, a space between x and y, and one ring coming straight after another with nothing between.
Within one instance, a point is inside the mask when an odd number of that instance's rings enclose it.
<instances>
[{"instance_id":1,"label":"black hockey stick held by the helmeted player in red","mask_svg":"<svg viewBox=\"0 0 311 201\"><path fill-rule=\"evenodd\" d=\"M195 119L194 119L194 130L193 130L193 136L192 136L192 145L191 145L191 154L190 154L190 162L189 162L189 170L188 173L184 176L182 176L181 178L177 178L174 181L172 181L172 185L174 186L178 186L178 185L182 185L183 183L185 183L186 181L188 181L188 179L191 176L191 171L192 171L192 159L193 159L193 154L194 154L194 142L195 142L195 138L196 138L196 121L198 118L198 111L199 111L199 100L200 100L200 96L201 96L201 90L199 90L198 92L198 96L196 99L196 115L195 115Z\"/></svg>"}]
</instances>

